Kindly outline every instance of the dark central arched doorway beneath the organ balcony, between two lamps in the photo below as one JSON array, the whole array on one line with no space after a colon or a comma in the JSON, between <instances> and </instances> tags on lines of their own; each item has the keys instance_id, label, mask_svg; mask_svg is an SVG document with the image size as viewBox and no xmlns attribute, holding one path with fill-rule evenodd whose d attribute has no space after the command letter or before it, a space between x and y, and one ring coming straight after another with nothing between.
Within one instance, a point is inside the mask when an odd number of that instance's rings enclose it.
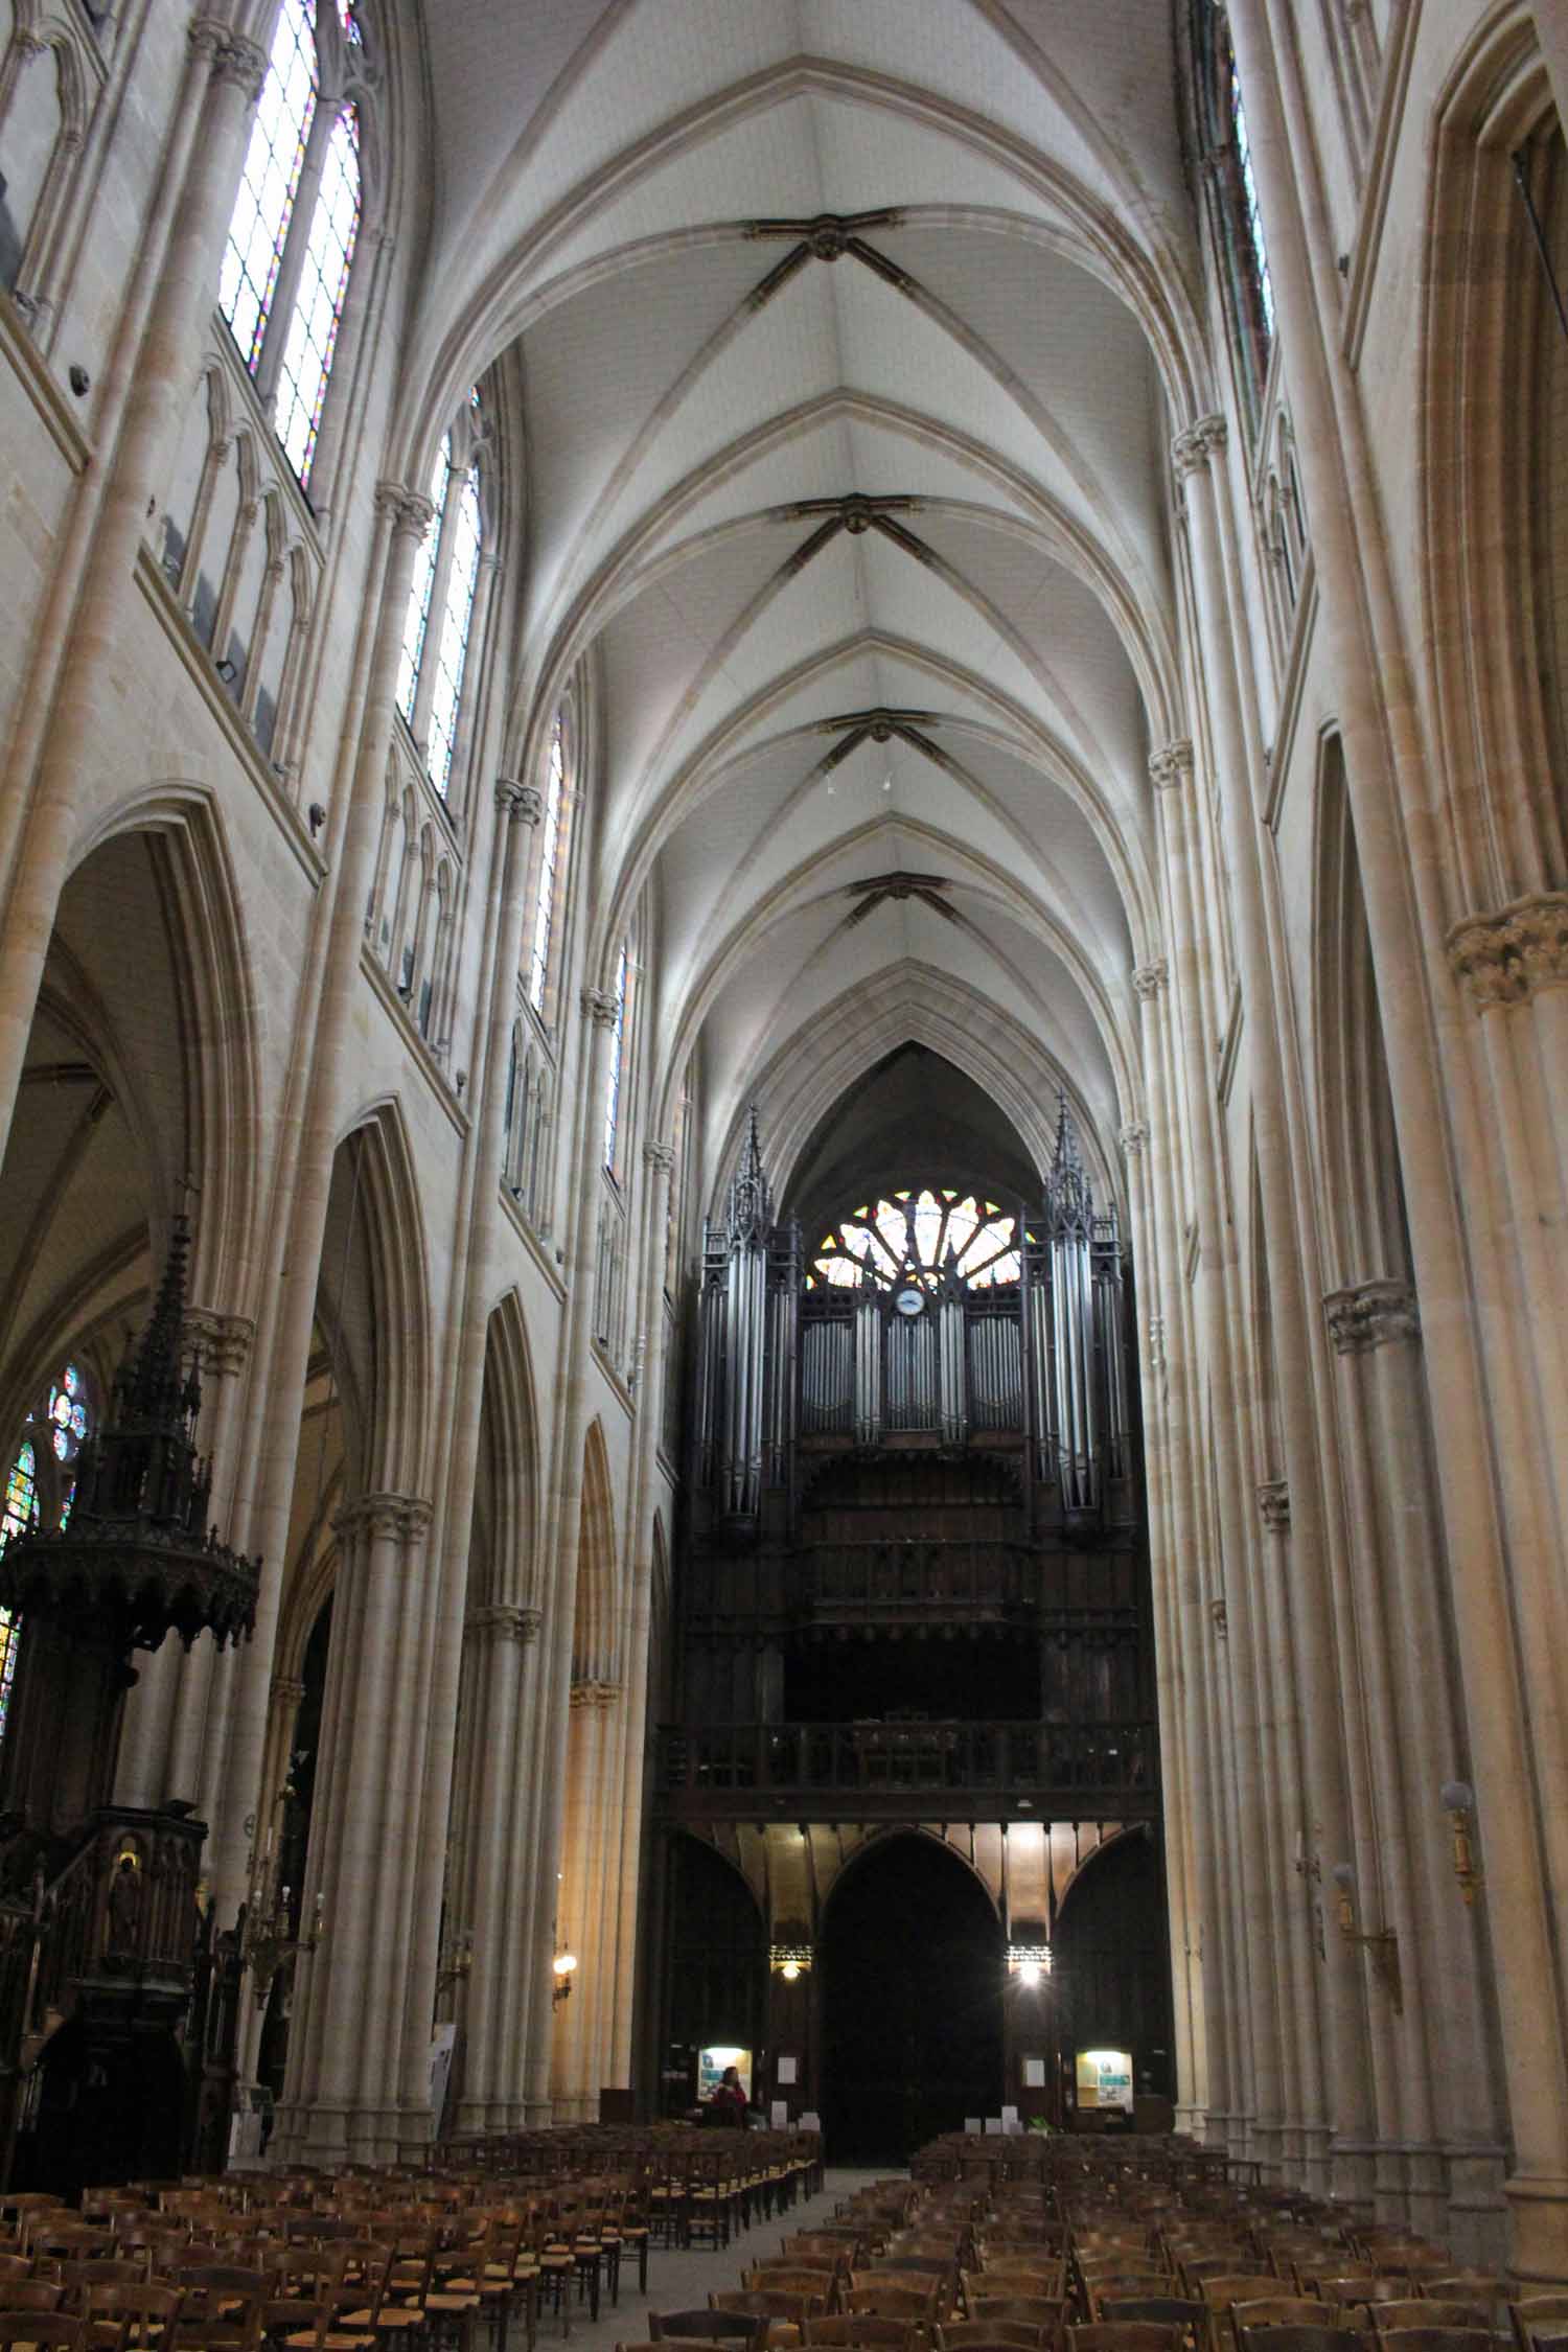
<instances>
[{"instance_id":1,"label":"dark central arched doorway beneath the organ balcony, between two lamps","mask_svg":"<svg viewBox=\"0 0 1568 2352\"><path fill-rule=\"evenodd\" d=\"M835 2164L905 2164L1001 2105L1001 1926L931 1837L889 1837L823 1919L823 2129Z\"/></svg>"}]
</instances>

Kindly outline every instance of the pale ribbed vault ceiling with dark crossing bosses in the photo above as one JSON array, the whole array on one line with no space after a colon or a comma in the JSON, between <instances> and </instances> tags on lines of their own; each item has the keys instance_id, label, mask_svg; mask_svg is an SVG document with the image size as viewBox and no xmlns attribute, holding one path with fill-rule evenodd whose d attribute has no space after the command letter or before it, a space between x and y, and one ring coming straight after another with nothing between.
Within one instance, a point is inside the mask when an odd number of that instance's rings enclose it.
<instances>
[{"instance_id":1,"label":"pale ribbed vault ceiling with dark crossing bosses","mask_svg":"<svg viewBox=\"0 0 1568 2352\"><path fill-rule=\"evenodd\" d=\"M806 1148L813 1056L940 1077L971 1028L1105 1152L1201 383L1164 0L470 0L428 56L409 430L515 353L515 743L588 661L658 1115L696 1051L715 1183L752 1096Z\"/></svg>"}]
</instances>

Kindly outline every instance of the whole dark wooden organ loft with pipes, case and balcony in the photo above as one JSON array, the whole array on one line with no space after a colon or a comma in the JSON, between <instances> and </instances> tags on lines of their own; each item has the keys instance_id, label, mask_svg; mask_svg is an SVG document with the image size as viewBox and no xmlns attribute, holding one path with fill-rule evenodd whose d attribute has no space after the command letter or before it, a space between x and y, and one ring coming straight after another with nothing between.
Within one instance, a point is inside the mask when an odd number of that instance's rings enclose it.
<instances>
[{"instance_id":1,"label":"whole dark wooden organ loft with pipes, case and balcony","mask_svg":"<svg viewBox=\"0 0 1568 2352\"><path fill-rule=\"evenodd\" d=\"M1009 1940L1046 1947L1046 1858L1161 1818L1131 1270L1067 1108L1032 1211L858 1200L827 1232L780 1218L752 1115L703 1237L654 1783L661 1980L731 1917L726 2016L799 2051L802 2100L813 2027L766 1952L816 1947L846 1853L919 1825L990 1856ZM679 2077L677 2016L710 2011L672 1999ZM1168 2049L1164 1997L1147 2016Z\"/></svg>"}]
</instances>

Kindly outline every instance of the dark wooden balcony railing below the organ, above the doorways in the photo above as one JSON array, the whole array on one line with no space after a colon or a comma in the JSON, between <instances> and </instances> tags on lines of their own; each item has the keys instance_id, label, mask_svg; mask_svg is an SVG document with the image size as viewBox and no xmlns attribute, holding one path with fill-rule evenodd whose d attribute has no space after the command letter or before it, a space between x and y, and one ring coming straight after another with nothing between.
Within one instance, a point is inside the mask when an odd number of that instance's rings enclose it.
<instances>
[{"instance_id":1,"label":"dark wooden balcony railing below the organ, above the doorways","mask_svg":"<svg viewBox=\"0 0 1568 2352\"><path fill-rule=\"evenodd\" d=\"M1143 1818L1159 1806L1152 1724L663 1726L658 1788L675 1818L907 1816L954 1797L992 1818Z\"/></svg>"}]
</instances>

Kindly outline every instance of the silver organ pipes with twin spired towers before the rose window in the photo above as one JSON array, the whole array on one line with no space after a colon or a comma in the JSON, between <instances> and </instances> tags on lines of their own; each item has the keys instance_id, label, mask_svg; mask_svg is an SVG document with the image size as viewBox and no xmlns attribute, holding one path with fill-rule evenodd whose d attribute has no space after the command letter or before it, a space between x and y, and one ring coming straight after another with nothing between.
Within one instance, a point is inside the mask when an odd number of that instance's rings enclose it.
<instances>
[{"instance_id":1,"label":"silver organ pipes with twin spired towers before the rose window","mask_svg":"<svg viewBox=\"0 0 1568 2352\"><path fill-rule=\"evenodd\" d=\"M959 1218L954 1200L898 1195L891 1235L863 1223L813 1261L799 1225L773 1221L752 1112L705 1228L698 1331L696 1486L731 1541L759 1529L764 1494L790 1491L802 1454L1006 1437L1070 1541L1131 1526L1121 1235L1065 1103L1039 1214L983 1204L997 1244L983 1275L980 1204Z\"/></svg>"}]
</instances>

